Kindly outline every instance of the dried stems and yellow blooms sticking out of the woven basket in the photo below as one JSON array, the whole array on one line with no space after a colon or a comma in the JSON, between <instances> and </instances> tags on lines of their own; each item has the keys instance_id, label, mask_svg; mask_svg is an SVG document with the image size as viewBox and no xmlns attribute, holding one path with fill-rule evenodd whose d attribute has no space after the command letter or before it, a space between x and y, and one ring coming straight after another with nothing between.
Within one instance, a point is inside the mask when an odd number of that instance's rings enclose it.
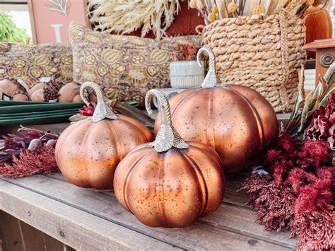
<instances>
[{"instance_id":1,"label":"dried stems and yellow blooms sticking out of the woven basket","mask_svg":"<svg viewBox=\"0 0 335 251\"><path fill-rule=\"evenodd\" d=\"M236 18L237 16L251 16L261 13L268 16L278 14L289 3L290 0L189 0L189 7L196 8L208 24L222 18ZM290 13L302 16L309 6L318 6L320 3L319 0L301 1L301 4Z\"/></svg>"}]
</instances>

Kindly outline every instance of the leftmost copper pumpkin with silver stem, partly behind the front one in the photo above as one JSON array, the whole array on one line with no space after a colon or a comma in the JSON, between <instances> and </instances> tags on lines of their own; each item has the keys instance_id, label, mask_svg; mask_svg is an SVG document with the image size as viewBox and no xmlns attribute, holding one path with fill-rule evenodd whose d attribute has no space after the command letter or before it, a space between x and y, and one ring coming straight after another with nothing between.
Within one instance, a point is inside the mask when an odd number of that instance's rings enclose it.
<instances>
[{"instance_id":1,"label":"leftmost copper pumpkin with silver stem, partly behind the front one","mask_svg":"<svg viewBox=\"0 0 335 251\"><path fill-rule=\"evenodd\" d=\"M152 141L153 136L136 119L115 115L95 83L86 82L81 86L81 98L86 104L84 89L87 87L97 93L94 115L71 124L59 136L57 165L74 185L112 188L114 172L122 158L135 146Z\"/></svg>"}]
</instances>

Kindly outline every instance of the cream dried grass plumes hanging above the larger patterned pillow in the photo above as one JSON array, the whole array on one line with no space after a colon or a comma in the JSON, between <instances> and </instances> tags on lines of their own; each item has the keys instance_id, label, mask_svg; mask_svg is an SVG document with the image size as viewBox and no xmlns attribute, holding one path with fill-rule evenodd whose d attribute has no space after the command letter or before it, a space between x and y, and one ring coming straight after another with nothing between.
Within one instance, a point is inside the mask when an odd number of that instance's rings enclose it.
<instances>
[{"instance_id":1,"label":"cream dried grass plumes hanging above the larger patterned pillow","mask_svg":"<svg viewBox=\"0 0 335 251\"><path fill-rule=\"evenodd\" d=\"M96 30L127 34L142 28L142 37L153 30L160 40L180 11L180 0L88 0L88 10Z\"/></svg>"}]
</instances>

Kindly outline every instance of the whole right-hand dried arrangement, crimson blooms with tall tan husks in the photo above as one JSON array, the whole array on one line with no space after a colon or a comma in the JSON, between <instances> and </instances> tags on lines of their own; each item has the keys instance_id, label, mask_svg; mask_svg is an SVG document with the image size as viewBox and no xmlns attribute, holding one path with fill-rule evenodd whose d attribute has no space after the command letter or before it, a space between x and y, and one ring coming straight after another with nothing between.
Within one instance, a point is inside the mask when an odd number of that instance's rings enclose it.
<instances>
[{"instance_id":1,"label":"whole right-hand dried arrangement, crimson blooms with tall tan husks","mask_svg":"<svg viewBox=\"0 0 335 251\"><path fill-rule=\"evenodd\" d=\"M325 250L335 238L335 64L307 98L303 71L288 125L266 153L266 171L254 171L242 189L265 230L288 228L298 250Z\"/></svg>"}]
</instances>

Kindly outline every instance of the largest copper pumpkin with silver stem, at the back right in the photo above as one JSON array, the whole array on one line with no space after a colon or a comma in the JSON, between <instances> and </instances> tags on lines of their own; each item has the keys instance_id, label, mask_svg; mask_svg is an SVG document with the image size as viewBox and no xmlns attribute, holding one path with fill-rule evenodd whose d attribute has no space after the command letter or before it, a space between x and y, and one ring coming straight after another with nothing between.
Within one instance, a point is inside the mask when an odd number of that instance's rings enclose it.
<instances>
[{"instance_id":1,"label":"largest copper pumpkin with silver stem, at the back right","mask_svg":"<svg viewBox=\"0 0 335 251\"><path fill-rule=\"evenodd\" d=\"M268 101L244 86L216 86L215 61L210 49L210 69L201 88L170 99L172 123L182 138L211 146L221 157L225 175L253 165L278 138L276 113ZM198 54L198 56L199 56ZM160 118L155 122L155 134Z\"/></svg>"}]
</instances>

